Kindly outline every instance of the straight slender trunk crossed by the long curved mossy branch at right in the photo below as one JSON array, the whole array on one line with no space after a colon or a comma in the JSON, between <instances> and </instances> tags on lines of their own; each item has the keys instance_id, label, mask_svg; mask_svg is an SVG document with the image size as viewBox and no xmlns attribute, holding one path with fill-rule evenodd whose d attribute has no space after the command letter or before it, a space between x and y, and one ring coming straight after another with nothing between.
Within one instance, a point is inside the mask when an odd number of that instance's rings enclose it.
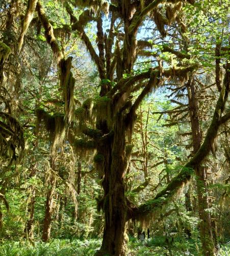
<instances>
[{"instance_id":1,"label":"straight slender trunk crossed by the long curved mossy branch at right","mask_svg":"<svg viewBox=\"0 0 230 256\"><path fill-rule=\"evenodd\" d=\"M195 85L192 78L187 83L188 103L192 128L193 154L195 154L201 145L202 135L199 126L198 107L195 98ZM207 184L205 168L197 166L195 168L197 181L198 213L200 219L200 240L204 255L215 255L215 246L212 235L211 217L207 211L209 208L207 196Z\"/></svg>"}]
</instances>

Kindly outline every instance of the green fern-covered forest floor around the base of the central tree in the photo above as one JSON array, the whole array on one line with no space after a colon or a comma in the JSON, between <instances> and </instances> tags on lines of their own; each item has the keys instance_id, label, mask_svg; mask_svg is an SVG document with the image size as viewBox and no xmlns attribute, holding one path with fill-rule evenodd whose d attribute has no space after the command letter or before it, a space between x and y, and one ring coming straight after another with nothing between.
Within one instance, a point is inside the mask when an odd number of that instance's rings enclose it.
<instances>
[{"instance_id":1,"label":"green fern-covered forest floor around the base of the central tree","mask_svg":"<svg viewBox=\"0 0 230 256\"><path fill-rule=\"evenodd\" d=\"M72 240L54 239L49 243L35 242L34 245L27 241L3 241L0 245L0 256L87 256L94 255L100 248L100 239ZM194 241L179 241L165 243L163 237L139 241L130 238L127 245L127 256L148 255L202 255L199 246ZM218 256L230 255L230 243L220 246Z\"/></svg>"}]
</instances>

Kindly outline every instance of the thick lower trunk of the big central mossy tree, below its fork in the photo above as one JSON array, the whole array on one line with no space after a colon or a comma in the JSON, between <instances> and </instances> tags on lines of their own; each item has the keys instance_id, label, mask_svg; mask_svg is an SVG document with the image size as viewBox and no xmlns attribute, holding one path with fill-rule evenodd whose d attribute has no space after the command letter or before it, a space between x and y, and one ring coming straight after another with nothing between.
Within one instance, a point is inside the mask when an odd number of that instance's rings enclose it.
<instances>
[{"instance_id":1,"label":"thick lower trunk of the big central mossy tree, below its fork","mask_svg":"<svg viewBox=\"0 0 230 256\"><path fill-rule=\"evenodd\" d=\"M111 150L112 149L112 150ZM126 200L124 196L125 127L122 114L118 114L114 125L111 146L105 147L104 160L104 214L103 242L96 255L125 255ZM106 167L106 168L105 168Z\"/></svg>"}]
</instances>

